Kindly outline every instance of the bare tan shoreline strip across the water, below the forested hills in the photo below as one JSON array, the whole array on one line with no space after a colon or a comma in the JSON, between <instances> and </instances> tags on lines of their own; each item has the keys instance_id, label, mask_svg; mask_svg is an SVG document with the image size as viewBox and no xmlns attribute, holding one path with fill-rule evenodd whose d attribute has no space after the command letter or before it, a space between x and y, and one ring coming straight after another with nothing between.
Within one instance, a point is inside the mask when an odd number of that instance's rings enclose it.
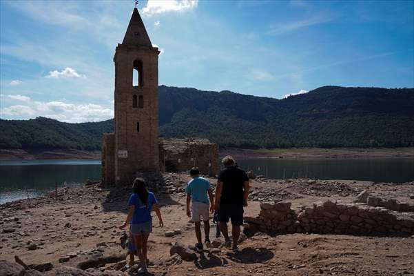
<instances>
[{"instance_id":1,"label":"bare tan shoreline strip across the water, below the forested hills","mask_svg":"<svg viewBox=\"0 0 414 276\"><path fill-rule=\"evenodd\" d=\"M223 148L220 157L236 159L352 159L352 158L414 158L414 148ZM99 150L0 150L0 160L38 159L101 159Z\"/></svg>"}]
</instances>

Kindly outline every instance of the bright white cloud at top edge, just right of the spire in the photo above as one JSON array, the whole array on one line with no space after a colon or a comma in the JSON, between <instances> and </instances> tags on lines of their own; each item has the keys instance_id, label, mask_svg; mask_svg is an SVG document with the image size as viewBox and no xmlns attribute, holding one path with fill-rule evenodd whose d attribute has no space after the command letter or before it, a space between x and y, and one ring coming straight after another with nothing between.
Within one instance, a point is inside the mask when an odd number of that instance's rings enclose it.
<instances>
[{"instance_id":1,"label":"bright white cloud at top edge, just right of the spire","mask_svg":"<svg viewBox=\"0 0 414 276\"><path fill-rule=\"evenodd\" d=\"M196 8L198 0L148 0L143 8L143 15L154 15L165 12L185 12Z\"/></svg>"}]
</instances>

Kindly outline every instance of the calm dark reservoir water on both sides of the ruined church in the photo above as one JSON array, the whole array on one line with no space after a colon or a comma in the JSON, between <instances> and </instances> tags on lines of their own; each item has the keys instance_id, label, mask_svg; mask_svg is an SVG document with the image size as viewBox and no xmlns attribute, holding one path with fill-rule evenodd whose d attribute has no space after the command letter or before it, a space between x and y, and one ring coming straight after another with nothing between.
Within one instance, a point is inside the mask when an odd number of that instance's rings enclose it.
<instances>
[{"instance_id":1,"label":"calm dark reservoir water on both sides of the ruined church","mask_svg":"<svg viewBox=\"0 0 414 276\"><path fill-rule=\"evenodd\" d=\"M257 159L238 166L274 179L353 179L375 182L414 181L414 159ZM101 160L0 161L0 204L35 197L57 186L100 179Z\"/></svg>"}]
</instances>

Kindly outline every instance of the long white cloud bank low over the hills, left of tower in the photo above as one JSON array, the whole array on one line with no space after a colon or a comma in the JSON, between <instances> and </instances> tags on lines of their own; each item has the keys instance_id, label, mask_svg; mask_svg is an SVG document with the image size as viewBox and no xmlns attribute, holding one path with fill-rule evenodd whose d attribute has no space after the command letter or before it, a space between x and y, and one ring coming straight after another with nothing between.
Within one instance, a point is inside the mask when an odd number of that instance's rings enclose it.
<instances>
[{"instance_id":1,"label":"long white cloud bank low over the hills, left of tower","mask_svg":"<svg viewBox=\"0 0 414 276\"><path fill-rule=\"evenodd\" d=\"M8 95L10 97L10 95ZM21 96L25 97L25 96ZM64 101L31 101L27 97L25 105L14 105L0 109L4 119L28 119L48 117L68 123L103 121L114 117L114 110L94 103L68 103Z\"/></svg>"}]
</instances>

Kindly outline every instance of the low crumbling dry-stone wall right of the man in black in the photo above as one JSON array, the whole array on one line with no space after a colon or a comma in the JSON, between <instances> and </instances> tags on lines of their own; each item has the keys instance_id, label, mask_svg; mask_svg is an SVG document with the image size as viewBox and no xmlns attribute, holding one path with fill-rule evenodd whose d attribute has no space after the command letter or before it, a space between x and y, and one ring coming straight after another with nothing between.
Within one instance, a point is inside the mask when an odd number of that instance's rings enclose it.
<instances>
[{"instance_id":1,"label":"low crumbling dry-stone wall right of the man in black","mask_svg":"<svg viewBox=\"0 0 414 276\"><path fill-rule=\"evenodd\" d=\"M245 217L247 233L320 233L348 235L414 234L414 213L398 213L366 204L318 201L311 207L291 210L290 202L260 204L258 217Z\"/></svg>"}]
</instances>

